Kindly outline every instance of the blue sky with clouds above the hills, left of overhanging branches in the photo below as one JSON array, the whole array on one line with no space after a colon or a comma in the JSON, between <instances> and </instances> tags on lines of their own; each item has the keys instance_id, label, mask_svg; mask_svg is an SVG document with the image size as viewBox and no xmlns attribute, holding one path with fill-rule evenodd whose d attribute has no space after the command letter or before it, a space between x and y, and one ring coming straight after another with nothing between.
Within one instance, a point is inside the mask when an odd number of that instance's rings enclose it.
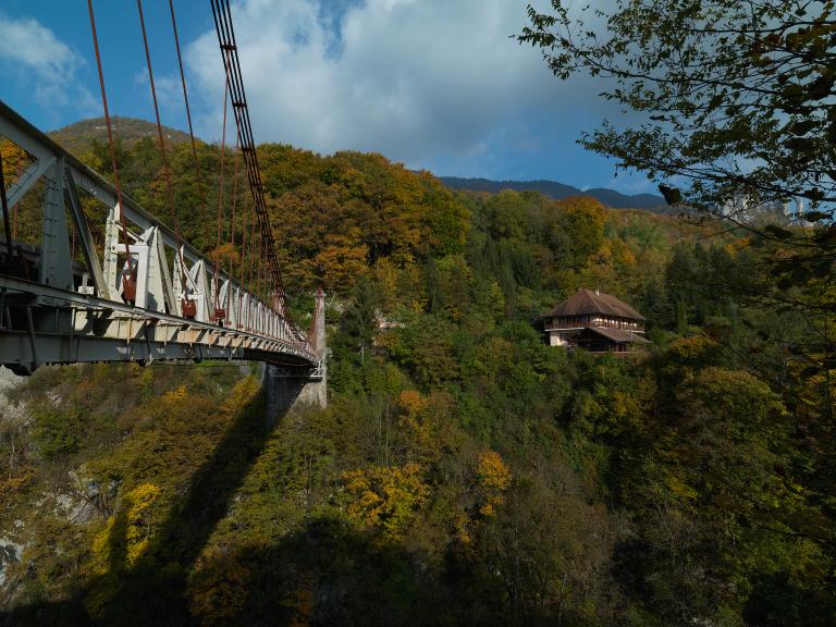
<instances>
[{"instance_id":1,"label":"blue sky with clouds above the hills, left of overhanging branches","mask_svg":"<svg viewBox=\"0 0 836 627\"><path fill-rule=\"evenodd\" d=\"M257 142L373 150L440 175L651 190L579 148L618 120L590 79L561 83L511 39L530 0L236 0ZM152 119L134 0L96 0L111 112ZM168 2L144 3L163 123L185 127ZM175 0L197 133L221 134L223 73L208 0ZM44 130L101 115L85 2L3 0L0 98Z\"/></svg>"}]
</instances>

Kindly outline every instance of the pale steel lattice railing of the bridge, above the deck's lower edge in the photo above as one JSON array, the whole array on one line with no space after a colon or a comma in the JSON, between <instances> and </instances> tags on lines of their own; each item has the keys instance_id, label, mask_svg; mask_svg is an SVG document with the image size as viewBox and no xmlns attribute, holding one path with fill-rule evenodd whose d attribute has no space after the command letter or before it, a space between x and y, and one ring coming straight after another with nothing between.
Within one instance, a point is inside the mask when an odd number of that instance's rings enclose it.
<instances>
[{"instance_id":1,"label":"pale steel lattice railing of the bridge, above the deck's lower edge","mask_svg":"<svg viewBox=\"0 0 836 627\"><path fill-rule=\"evenodd\" d=\"M20 201L38 182L44 183L37 262L33 262L32 250L26 261L22 247L15 251L14 246L0 244L7 258L7 263L0 268L0 290L7 303L14 298L20 300L20 294L33 296L35 300L26 305L29 319L33 318L32 306L41 309L53 306L56 311L67 304L71 309L81 307L85 311L110 309L113 319L124 318L127 314L130 320L153 320L156 331L162 328L158 327L161 320L172 322L172 330L202 330L198 334L201 340L194 334L184 339L186 334L183 333L163 333L160 339L163 344L194 344L222 336L228 339L229 347L234 344L232 336L237 334L242 339L237 343L241 346L247 343L254 346L258 340L269 341L261 346L292 354L311 365L318 362L306 335L280 310L281 299L273 297L272 304L262 302L138 204L125 195L122 195L122 202L118 202L115 189L106 180L1 101L0 135L32 159L29 168L8 188L8 206ZM102 259L79 189L108 207ZM78 246L85 260L86 271L81 274L79 265L72 256L71 229L78 234ZM24 269L22 272L15 271L14 263L9 262L15 253L20 256L17 267ZM75 295L86 298L78 302ZM44 314L42 310L39 312ZM64 314L59 316L63 320L61 324L51 324L44 316L25 320L25 331L30 335L64 331L83 333L90 323L86 315L79 318L75 311L69 320ZM0 320L0 328L10 331L13 320L9 315L5 318ZM122 335L130 337L132 332L128 330ZM119 337L122 335L118 334ZM249 340L244 342L247 337ZM34 348L35 344L32 353Z\"/></svg>"}]
</instances>

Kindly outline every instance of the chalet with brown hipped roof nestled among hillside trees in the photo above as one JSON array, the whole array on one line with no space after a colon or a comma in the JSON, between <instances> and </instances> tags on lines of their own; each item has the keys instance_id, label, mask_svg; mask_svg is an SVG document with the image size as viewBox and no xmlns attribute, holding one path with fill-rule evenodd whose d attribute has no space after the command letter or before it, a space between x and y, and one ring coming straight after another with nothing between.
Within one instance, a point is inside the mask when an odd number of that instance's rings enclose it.
<instances>
[{"instance_id":1,"label":"chalet with brown hipped roof nestled among hillside trees","mask_svg":"<svg viewBox=\"0 0 836 627\"><path fill-rule=\"evenodd\" d=\"M632 307L598 290L579 290L544 316L550 346L591 353L642 351L644 317Z\"/></svg>"}]
</instances>

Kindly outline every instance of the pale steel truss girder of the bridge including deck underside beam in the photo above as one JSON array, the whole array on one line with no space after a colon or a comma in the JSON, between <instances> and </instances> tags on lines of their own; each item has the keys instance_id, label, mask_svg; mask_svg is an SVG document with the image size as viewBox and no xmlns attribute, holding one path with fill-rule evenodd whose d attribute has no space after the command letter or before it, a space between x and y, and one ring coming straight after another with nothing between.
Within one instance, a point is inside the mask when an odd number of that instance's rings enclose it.
<instances>
[{"instance_id":1,"label":"pale steel truss girder of the bridge including deck underside beam","mask_svg":"<svg viewBox=\"0 0 836 627\"><path fill-rule=\"evenodd\" d=\"M30 303L26 306L28 329L10 328L10 317L0 305L0 364L188 359L195 358L195 351L206 357L235 359L248 355L246 358L271 362L290 358L311 367L320 364L309 342L299 341L304 335L280 312L234 278L216 270L211 261L136 202L123 196L120 206L115 189L107 181L2 101L0 135L35 160L8 190L9 201L17 201L40 180L46 184L38 282L0 275L0 302ZM109 208L101 261L78 188ZM89 270L77 291L67 208ZM127 233L122 232L123 217L130 225ZM173 268L169 257L174 259ZM122 275L132 269L136 269L137 282L133 305L121 299ZM186 298L196 300L194 319L181 316L180 303ZM224 327L214 318L216 306L225 310ZM54 329L41 321L50 319L44 315L46 310L54 310ZM35 323L33 311L38 314Z\"/></svg>"}]
</instances>

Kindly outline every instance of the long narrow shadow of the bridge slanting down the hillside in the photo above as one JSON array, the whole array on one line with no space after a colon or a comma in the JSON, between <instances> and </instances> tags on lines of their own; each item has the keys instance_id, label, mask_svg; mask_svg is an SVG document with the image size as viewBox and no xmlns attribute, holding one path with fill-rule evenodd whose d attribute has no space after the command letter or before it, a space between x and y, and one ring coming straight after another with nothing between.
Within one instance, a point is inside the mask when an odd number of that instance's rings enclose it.
<instances>
[{"instance_id":1,"label":"long narrow shadow of the bridge slanting down the hillside","mask_svg":"<svg viewBox=\"0 0 836 627\"><path fill-rule=\"evenodd\" d=\"M270 403L263 388L224 432L212 456L196 474L189 490L172 508L151 544L130 569L126 563L127 521L123 506L110 539L109 571L93 579L74 598L24 605L0 615L0 625L187 625L193 620L184 600L188 573L218 522L265 448L284 406ZM94 622L93 610L101 617Z\"/></svg>"}]
</instances>

